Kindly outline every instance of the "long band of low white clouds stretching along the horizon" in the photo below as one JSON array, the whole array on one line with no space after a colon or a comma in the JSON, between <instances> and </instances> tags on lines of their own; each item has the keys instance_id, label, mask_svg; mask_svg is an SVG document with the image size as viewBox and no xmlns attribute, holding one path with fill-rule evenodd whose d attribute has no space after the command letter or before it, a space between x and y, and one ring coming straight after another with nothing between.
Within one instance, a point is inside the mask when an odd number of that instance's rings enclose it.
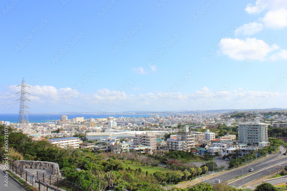
<instances>
[{"instance_id":1,"label":"long band of low white clouds stretching along the horizon","mask_svg":"<svg viewBox=\"0 0 287 191\"><path fill-rule=\"evenodd\" d=\"M64 96L59 94L67 95L72 90L71 88L57 89L53 86L32 86L29 90L29 92L33 94L29 97L29 99L31 99L29 107L31 108L30 111L32 112L36 110L37 112L42 111L43 113L59 111L89 112L89 109L87 108L91 108L90 111L101 111L101 108L104 106L108 106L108 109L105 110L106 112L130 110L124 107L147 111L179 109L199 110L204 104L208 104L206 110L231 108L286 108L287 103L285 100L287 93L278 93L276 92L277 89L274 89L272 86L269 88L272 88L272 91L269 92L267 97L265 96L265 91L243 91L242 88L236 88L238 90L229 91L214 91L208 89L207 87L203 87L193 93L186 94L181 92L148 92L146 94L126 94L123 91L109 90L104 88L89 94L77 92L77 94L73 95L73 97L80 99L73 99L71 97L66 100ZM268 89L268 87L266 87L266 89ZM49 91L51 91L51 93L49 93ZM13 92L10 93L13 94ZM261 102L259 102L260 98L263 99ZM53 101L48 99L52 99ZM55 101L64 102L71 105L64 105ZM3 100L0 101L0 104L5 104L6 102L6 100ZM35 102L44 104L48 107L37 105ZM75 107L73 105L77 105L79 107ZM123 107L116 107L115 105ZM58 110L54 110L52 108L56 108ZM19 104L14 103L13 108L11 107L10 109L14 109L15 112L18 112Z\"/></svg>"}]
</instances>

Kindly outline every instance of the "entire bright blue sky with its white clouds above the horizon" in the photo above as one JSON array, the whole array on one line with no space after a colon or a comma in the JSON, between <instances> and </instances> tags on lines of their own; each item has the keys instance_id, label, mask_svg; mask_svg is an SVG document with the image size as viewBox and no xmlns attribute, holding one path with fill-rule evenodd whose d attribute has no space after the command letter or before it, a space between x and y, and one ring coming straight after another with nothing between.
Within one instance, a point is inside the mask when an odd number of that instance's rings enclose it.
<instances>
[{"instance_id":1,"label":"entire bright blue sky with its white clouds above the horizon","mask_svg":"<svg viewBox=\"0 0 287 191\"><path fill-rule=\"evenodd\" d=\"M0 7L0 113L287 108L286 0Z\"/></svg>"}]
</instances>

